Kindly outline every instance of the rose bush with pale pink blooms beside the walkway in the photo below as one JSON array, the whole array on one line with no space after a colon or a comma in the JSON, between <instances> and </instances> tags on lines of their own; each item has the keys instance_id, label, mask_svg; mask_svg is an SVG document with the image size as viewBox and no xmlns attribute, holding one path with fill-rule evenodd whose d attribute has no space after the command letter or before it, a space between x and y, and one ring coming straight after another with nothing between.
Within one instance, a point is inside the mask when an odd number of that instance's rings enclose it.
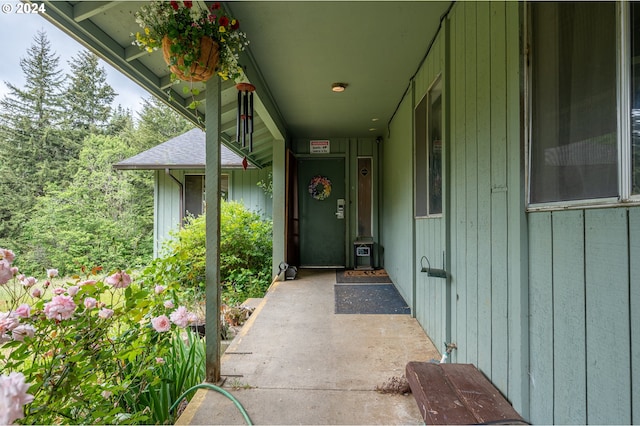
<instances>
[{"instance_id":1,"label":"rose bush with pale pink blooms beside the walkway","mask_svg":"<svg viewBox=\"0 0 640 426\"><path fill-rule=\"evenodd\" d=\"M0 424L172 423L171 399L204 379L178 286L93 268L52 289L19 275L14 258L0 248Z\"/></svg>"}]
</instances>

